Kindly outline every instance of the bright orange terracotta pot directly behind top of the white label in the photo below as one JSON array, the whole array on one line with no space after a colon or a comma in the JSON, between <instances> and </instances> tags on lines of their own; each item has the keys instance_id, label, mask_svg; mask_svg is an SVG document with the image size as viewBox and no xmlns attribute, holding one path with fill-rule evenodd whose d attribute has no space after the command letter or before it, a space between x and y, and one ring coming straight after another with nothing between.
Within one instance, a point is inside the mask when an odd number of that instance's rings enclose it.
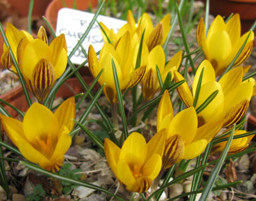
<instances>
[{"instance_id":1,"label":"bright orange terracotta pot directly behind top of the white label","mask_svg":"<svg viewBox=\"0 0 256 201\"><path fill-rule=\"evenodd\" d=\"M64 8L63 1L67 4L67 8L72 8L74 0L52 0L52 2L47 6L45 11L45 17L51 24L53 29L56 29L56 22L58 17L58 11ZM98 6L97 0L76 0L77 10L88 10L89 5L92 8Z\"/></svg>"}]
</instances>

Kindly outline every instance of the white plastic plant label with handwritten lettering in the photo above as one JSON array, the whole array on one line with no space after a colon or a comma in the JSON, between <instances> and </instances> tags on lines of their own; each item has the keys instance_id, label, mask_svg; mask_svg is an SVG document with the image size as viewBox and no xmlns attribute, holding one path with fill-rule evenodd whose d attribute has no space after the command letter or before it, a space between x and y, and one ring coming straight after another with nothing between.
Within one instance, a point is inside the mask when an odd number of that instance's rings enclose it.
<instances>
[{"instance_id":1,"label":"white plastic plant label with handwritten lettering","mask_svg":"<svg viewBox=\"0 0 256 201\"><path fill-rule=\"evenodd\" d=\"M83 35L84 31L86 31L93 17L93 13L74 10L71 8L62 8L58 12L56 35L58 36L62 33L65 34L68 54L76 46L77 41L80 40L81 36ZM118 31L118 29L120 29L120 27L122 27L126 23L126 21L124 20L118 20L103 15L99 15L97 17L97 21L103 22L109 29L113 29L115 33ZM86 36L82 45L84 50L86 50L86 53L88 53L89 45L93 45L95 52L99 51L104 45L102 34L100 32L100 27L97 22L93 24L90 33ZM81 64L85 60L86 57L84 57L82 49L81 47L79 47L76 50L74 56L71 57L71 61L74 64Z\"/></svg>"}]
</instances>

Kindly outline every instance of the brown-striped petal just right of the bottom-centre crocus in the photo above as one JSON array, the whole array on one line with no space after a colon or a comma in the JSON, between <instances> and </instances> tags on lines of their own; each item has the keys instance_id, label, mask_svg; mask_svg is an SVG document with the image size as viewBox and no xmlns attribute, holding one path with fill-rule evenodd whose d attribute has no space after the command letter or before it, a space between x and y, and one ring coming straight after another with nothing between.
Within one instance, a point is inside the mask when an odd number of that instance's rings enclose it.
<instances>
[{"instance_id":1,"label":"brown-striped petal just right of the bottom-centre crocus","mask_svg":"<svg viewBox=\"0 0 256 201\"><path fill-rule=\"evenodd\" d=\"M173 135L166 140L163 155L163 168L172 167L184 156L184 142L179 135Z\"/></svg>"}]
</instances>

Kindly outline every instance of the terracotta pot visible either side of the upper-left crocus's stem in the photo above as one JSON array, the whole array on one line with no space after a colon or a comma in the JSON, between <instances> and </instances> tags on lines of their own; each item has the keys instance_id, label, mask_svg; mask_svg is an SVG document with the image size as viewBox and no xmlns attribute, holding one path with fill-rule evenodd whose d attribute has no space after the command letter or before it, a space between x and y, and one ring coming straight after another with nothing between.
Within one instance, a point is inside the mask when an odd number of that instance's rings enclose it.
<instances>
[{"instance_id":1,"label":"terracotta pot visible either side of the upper-left crocus's stem","mask_svg":"<svg viewBox=\"0 0 256 201\"><path fill-rule=\"evenodd\" d=\"M88 86L90 86L94 80L94 78L92 76L84 76L83 78L84 78L84 81L86 82L86 84L88 84ZM65 82L60 87L60 89L58 90L58 92L56 94L56 97L68 98L68 97L74 96L79 93L84 93L84 89L81 86L81 84L79 83L79 81L77 80L77 78L72 77L72 78L69 78L67 80L67 82ZM30 93L30 94L32 94L32 93ZM28 110L28 104L27 104L26 97L24 95L21 85L0 95L0 99L7 101L8 103L10 103L14 107L18 108L22 112L25 112L26 110ZM10 115L12 115L12 117L17 117L18 113L15 112L15 110L8 107L4 103L1 103L1 105L3 105L3 107L6 109L6 111L9 112Z\"/></svg>"}]
</instances>

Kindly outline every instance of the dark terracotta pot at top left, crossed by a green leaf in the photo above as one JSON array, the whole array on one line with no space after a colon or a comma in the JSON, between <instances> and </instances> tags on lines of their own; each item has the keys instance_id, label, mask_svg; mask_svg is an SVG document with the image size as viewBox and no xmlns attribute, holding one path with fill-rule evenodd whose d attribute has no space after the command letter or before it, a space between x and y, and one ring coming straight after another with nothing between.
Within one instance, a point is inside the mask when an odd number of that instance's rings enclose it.
<instances>
[{"instance_id":1,"label":"dark terracotta pot at top left, crossed by a green leaf","mask_svg":"<svg viewBox=\"0 0 256 201\"><path fill-rule=\"evenodd\" d=\"M42 17L50 2L51 0L34 0L32 15ZM8 0L8 3L12 5L13 10L17 11L20 17L28 16L30 0Z\"/></svg>"}]
</instances>

